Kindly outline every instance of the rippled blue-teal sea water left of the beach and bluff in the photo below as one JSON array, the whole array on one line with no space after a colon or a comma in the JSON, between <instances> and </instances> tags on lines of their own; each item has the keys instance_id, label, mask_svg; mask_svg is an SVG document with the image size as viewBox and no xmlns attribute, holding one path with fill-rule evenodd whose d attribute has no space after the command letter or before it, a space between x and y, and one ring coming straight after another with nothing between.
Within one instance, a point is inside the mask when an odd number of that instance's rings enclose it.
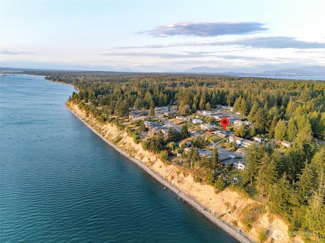
<instances>
[{"instance_id":1,"label":"rippled blue-teal sea water left of the beach and bluff","mask_svg":"<svg viewBox=\"0 0 325 243\"><path fill-rule=\"evenodd\" d=\"M0 242L238 242L93 134L41 76L0 81Z\"/></svg>"}]
</instances>

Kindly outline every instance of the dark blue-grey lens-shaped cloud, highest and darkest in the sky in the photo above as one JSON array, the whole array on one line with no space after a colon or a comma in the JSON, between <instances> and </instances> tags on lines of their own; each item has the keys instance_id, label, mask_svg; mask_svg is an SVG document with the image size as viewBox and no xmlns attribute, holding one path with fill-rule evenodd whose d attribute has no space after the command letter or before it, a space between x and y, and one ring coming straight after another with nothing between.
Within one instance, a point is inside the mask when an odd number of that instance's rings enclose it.
<instances>
[{"instance_id":1,"label":"dark blue-grey lens-shaped cloud, highest and darkest in the sky","mask_svg":"<svg viewBox=\"0 0 325 243\"><path fill-rule=\"evenodd\" d=\"M173 35L211 37L226 34L249 34L268 30L264 24L257 22L215 22L215 23L173 23L159 26L153 30L138 33L149 34L154 37L166 37Z\"/></svg>"}]
</instances>

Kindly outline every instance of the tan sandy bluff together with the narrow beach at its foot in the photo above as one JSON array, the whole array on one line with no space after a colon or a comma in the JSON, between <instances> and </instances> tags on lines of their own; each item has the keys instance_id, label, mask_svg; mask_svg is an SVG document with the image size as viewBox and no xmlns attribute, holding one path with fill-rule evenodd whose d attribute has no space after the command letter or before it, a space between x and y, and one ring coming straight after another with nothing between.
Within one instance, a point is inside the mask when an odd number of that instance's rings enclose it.
<instances>
[{"instance_id":1,"label":"tan sandy bluff together with the narrow beach at its foot","mask_svg":"<svg viewBox=\"0 0 325 243\"><path fill-rule=\"evenodd\" d=\"M256 204L256 201L244 198L228 189L217 194L212 186L194 182L193 176L186 169L177 165L164 164L158 155L144 150L141 144L136 144L125 131L119 130L115 125L110 123L101 125L98 120L72 102L68 102L66 106L107 144L134 161L164 187L175 192L180 199L186 201L240 242L258 242L257 235L261 229L267 230L268 241L274 237L273 232L283 232L281 238L278 237L275 242L303 242L297 237L289 238L285 234L288 230L285 222L268 212L259 217L249 231L245 231L240 223L240 215L243 209Z\"/></svg>"}]
</instances>

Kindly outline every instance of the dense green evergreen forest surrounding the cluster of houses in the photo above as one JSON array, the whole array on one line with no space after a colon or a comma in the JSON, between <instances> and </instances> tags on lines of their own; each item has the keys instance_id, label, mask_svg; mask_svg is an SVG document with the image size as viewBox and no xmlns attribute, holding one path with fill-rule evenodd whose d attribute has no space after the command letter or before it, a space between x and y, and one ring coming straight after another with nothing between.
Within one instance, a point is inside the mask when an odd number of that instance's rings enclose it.
<instances>
[{"instance_id":1,"label":"dense green evergreen forest surrounding the cluster of houses","mask_svg":"<svg viewBox=\"0 0 325 243\"><path fill-rule=\"evenodd\" d=\"M325 147L317 142L325 135L324 82L157 73L38 74L75 86L79 92L73 93L70 100L85 105L102 123L112 114L126 116L133 106L152 110L155 106L177 104L180 115L211 110L219 104L233 106L235 112L246 115L252 123L246 133L270 139L268 144L255 144L248 149L247 169L237 189L245 190L245 185L256 183L261 195L268 198L271 211L285 219L291 231L315 232L319 241L325 237ZM144 141L144 146L159 152L168 142L188 136L183 127L180 134L171 133L167 141L158 133ZM272 138L292 145L279 151ZM194 142L197 147L204 146L200 138ZM195 149L188 154L190 169L198 173L197 168L201 167L207 174L207 183L221 190L225 187L222 179L212 173L217 168L216 149L210 159L200 159ZM168 155L163 152L161 156L166 159Z\"/></svg>"}]
</instances>

